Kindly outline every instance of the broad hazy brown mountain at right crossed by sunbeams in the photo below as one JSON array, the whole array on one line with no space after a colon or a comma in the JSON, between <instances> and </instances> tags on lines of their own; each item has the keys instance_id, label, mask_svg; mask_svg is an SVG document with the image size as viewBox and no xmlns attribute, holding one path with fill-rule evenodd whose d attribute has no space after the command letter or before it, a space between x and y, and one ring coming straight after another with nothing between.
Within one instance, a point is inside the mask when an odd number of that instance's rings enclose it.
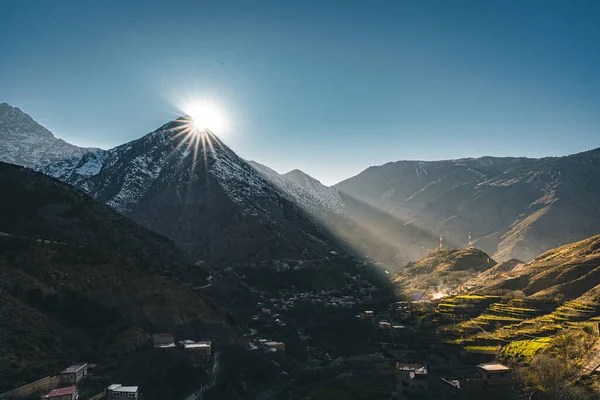
<instances>
[{"instance_id":1,"label":"broad hazy brown mountain at right crossed by sunbeams","mask_svg":"<svg viewBox=\"0 0 600 400\"><path fill-rule=\"evenodd\" d=\"M460 247L530 261L600 232L600 149L566 157L399 161L335 187ZM346 201L344 201L346 203Z\"/></svg>"}]
</instances>

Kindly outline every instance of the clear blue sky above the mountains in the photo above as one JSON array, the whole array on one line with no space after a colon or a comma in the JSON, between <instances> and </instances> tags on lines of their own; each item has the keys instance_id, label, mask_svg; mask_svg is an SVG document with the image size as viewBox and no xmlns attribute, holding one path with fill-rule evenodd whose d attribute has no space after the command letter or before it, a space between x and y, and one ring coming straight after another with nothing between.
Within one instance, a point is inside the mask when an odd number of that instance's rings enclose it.
<instances>
[{"instance_id":1,"label":"clear blue sky above the mountains","mask_svg":"<svg viewBox=\"0 0 600 400\"><path fill-rule=\"evenodd\" d=\"M110 148L184 101L333 184L400 159L600 146L600 1L0 1L0 102ZM219 134L219 132L217 132Z\"/></svg>"}]
</instances>

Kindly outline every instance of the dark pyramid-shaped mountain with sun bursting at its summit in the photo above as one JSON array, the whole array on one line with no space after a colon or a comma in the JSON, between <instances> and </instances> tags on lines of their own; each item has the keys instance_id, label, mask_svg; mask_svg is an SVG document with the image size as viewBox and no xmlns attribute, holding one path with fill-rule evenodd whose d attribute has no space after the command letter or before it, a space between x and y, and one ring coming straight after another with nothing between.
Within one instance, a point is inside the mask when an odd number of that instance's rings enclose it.
<instances>
[{"instance_id":1,"label":"dark pyramid-shaped mountain with sun bursting at its summit","mask_svg":"<svg viewBox=\"0 0 600 400\"><path fill-rule=\"evenodd\" d=\"M336 246L216 136L193 129L179 118L109 150L96 175L66 181L211 262L321 258Z\"/></svg>"}]
</instances>

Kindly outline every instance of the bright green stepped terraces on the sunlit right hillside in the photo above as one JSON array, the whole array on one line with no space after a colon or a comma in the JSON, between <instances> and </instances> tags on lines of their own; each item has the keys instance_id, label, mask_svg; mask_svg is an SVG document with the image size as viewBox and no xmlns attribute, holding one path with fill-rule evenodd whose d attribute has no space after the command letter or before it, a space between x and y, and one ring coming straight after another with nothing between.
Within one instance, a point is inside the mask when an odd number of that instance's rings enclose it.
<instances>
[{"instance_id":1,"label":"bright green stepped terraces on the sunlit right hillside","mask_svg":"<svg viewBox=\"0 0 600 400\"><path fill-rule=\"evenodd\" d=\"M585 296L557 306L554 299L463 295L438 304L438 334L467 353L497 354L527 362L565 330L598 335L600 299Z\"/></svg>"}]
</instances>

